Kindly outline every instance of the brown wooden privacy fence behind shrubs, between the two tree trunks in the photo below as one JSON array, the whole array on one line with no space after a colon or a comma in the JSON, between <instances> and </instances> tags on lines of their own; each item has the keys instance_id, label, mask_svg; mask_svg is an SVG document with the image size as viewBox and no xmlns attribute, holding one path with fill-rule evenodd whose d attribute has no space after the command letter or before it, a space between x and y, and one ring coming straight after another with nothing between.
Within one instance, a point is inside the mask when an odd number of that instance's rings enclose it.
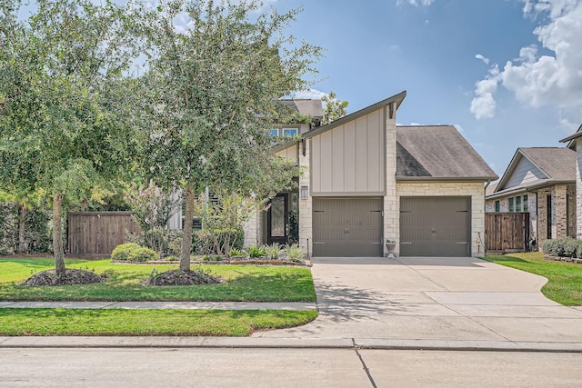
<instances>
[{"instance_id":1,"label":"brown wooden privacy fence behind shrubs, between the two tree trunks","mask_svg":"<svg viewBox=\"0 0 582 388\"><path fill-rule=\"evenodd\" d=\"M132 212L67 213L68 254L108 257L124 243L125 233L139 234Z\"/></svg>"}]
</instances>

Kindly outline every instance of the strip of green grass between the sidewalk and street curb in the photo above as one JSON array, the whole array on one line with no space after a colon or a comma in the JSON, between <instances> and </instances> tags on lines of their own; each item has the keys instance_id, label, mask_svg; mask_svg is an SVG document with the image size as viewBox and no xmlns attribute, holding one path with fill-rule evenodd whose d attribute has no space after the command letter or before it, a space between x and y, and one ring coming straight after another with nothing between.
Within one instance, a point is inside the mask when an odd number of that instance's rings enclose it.
<instances>
[{"instance_id":1,"label":"strip of green grass between the sidewalk and street curb","mask_svg":"<svg viewBox=\"0 0 582 388\"><path fill-rule=\"evenodd\" d=\"M313 311L0 309L0 335L246 336L298 326Z\"/></svg>"}]
</instances>

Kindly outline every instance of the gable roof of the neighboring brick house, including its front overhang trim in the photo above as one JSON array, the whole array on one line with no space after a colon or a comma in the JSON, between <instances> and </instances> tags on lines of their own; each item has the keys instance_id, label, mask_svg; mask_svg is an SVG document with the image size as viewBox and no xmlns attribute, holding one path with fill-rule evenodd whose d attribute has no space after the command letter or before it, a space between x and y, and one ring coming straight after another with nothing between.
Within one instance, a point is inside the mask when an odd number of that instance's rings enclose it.
<instances>
[{"instance_id":1,"label":"gable roof of the neighboring brick house, including its front overhang trim","mask_svg":"<svg viewBox=\"0 0 582 388\"><path fill-rule=\"evenodd\" d=\"M517 166L526 161L532 166L532 175L536 178L528 179L511 187L507 183L514 177ZM540 187L549 184L574 183L576 180L576 152L568 147L519 147L511 162L507 165L495 192L489 194L497 196L520 189Z\"/></svg>"}]
</instances>

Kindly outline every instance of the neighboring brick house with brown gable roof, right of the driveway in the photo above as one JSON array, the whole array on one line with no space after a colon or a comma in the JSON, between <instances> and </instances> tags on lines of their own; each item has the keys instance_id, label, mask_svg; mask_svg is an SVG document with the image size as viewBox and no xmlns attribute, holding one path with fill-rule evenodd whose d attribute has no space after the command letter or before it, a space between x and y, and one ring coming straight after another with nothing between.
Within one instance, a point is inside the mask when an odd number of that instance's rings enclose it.
<instances>
[{"instance_id":1,"label":"neighboring brick house with brown gable roof, right of the driveway","mask_svg":"<svg viewBox=\"0 0 582 388\"><path fill-rule=\"evenodd\" d=\"M530 238L576 236L576 151L517 148L499 182L487 188L486 212L529 213Z\"/></svg>"}]
</instances>

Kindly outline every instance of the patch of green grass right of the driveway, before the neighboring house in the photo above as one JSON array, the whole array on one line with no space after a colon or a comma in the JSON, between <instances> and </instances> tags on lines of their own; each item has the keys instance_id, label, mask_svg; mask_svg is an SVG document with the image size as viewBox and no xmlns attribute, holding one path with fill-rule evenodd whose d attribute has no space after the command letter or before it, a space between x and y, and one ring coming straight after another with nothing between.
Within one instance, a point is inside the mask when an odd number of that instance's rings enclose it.
<instances>
[{"instance_id":1,"label":"patch of green grass right of the driveway, before the neighboring house","mask_svg":"<svg viewBox=\"0 0 582 388\"><path fill-rule=\"evenodd\" d=\"M560 304L582 305L582 264L544 260L544 254L489 254L485 260L547 277L542 293Z\"/></svg>"}]
</instances>

